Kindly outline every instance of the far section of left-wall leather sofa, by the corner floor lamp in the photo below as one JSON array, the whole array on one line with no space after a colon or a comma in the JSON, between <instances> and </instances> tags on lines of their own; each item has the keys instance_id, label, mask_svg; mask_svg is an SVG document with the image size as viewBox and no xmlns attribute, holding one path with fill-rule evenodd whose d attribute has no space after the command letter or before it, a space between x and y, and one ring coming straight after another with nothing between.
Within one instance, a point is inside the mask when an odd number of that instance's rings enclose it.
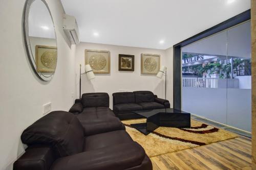
<instances>
[{"instance_id":1,"label":"far section of left-wall leather sofa, by the corner floor lamp","mask_svg":"<svg viewBox=\"0 0 256 170\"><path fill-rule=\"evenodd\" d=\"M108 93L84 93L81 100L76 100L69 112L76 115L86 135L114 130L125 130L125 127L109 108Z\"/></svg>"}]
</instances>

